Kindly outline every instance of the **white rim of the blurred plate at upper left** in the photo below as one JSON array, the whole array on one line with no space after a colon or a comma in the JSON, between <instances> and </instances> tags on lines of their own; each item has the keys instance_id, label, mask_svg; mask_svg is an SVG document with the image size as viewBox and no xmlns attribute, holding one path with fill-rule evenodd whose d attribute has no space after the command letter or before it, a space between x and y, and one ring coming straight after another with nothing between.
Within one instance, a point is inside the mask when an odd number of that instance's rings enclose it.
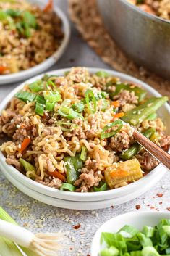
<instances>
[{"instance_id":1,"label":"white rim of the blurred plate at upper left","mask_svg":"<svg viewBox=\"0 0 170 256\"><path fill-rule=\"evenodd\" d=\"M47 1L44 2L41 0L30 0L30 2L33 4L38 4L38 6L43 8L46 5ZM64 54L67 44L69 43L69 21L67 20L66 15L64 15L64 12L62 12L61 9L59 9L58 7L54 7L54 12L56 12L56 14L61 18L62 29L64 32L64 38L61 41L59 48L54 52L54 54L51 55L51 57L48 57L48 59L46 59L45 61L41 62L38 65L35 65L35 67L30 67L27 70L19 71L17 73L9 75L0 75L0 85L25 80L27 78L33 77L33 75L42 73L43 71L47 70L49 67L54 65L57 62L57 60L61 57L61 55Z\"/></svg>"}]
</instances>

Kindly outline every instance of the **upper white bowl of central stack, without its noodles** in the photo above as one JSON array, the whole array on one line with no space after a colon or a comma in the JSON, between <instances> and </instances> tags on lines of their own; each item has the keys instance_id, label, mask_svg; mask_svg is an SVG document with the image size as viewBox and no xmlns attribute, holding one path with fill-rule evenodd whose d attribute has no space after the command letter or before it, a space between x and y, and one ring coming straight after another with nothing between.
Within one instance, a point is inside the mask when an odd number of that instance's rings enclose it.
<instances>
[{"instance_id":1,"label":"upper white bowl of central stack, without its noodles","mask_svg":"<svg viewBox=\"0 0 170 256\"><path fill-rule=\"evenodd\" d=\"M48 75L64 75L65 72L70 70L62 69L62 70L54 70L51 72L48 72ZM90 73L96 73L99 68L88 68ZM140 86L142 86L145 91L148 91L149 96L161 96L156 90L148 86L146 83L143 83L140 80L137 80L136 78L132 78L129 75L125 75L123 73L118 73L112 70L105 70L109 75L112 75L114 77L120 78L122 81L127 81L131 83L136 83ZM17 88L14 88L14 90L4 99L3 102L0 104L0 112L5 109L8 102L14 94L17 93L17 91L20 91L20 89L25 85L25 83L32 83L35 80L41 79L45 74L37 75L34 78L31 78L30 80L27 80L26 82L22 83ZM159 110L158 115L161 116L163 119L163 122L166 125L167 133L170 133L170 123L169 123L169 117L170 117L170 107L169 104L164 104ZM0 141L0 144L2 142L2 139ZM44 186L41 183L37 183L30 178L27 178L22 173L20 173L16 168L12 167L12 165L7 165L5 162L6 158L0 152L0 165L1 170L3 171L4 175L7 173L7 178L9 176L12 176L13 179L18 181L18 183L22 183L23 186L36 191L38 193L44 194L48 197L56 198L56 199L64 199L68 201L75 201L75 202L96 202L96 201L103 201L103 200L109 200L109 199L119 199L120 197L128 197L129 200L135 197L138 197L140 194L145 193L145 191L148 191L152 186L154 186L166 173L166 168L164 168L162 165L158 165L156 168L154 168L150 173L148 173L146 176L141 178L139 181L135 181L134 183L130 183L127 186L123 186L118 189L110 189L107 191L101 191L101 192L86 192L86 193L79 193L79 192L69 192L69 191L60 191L58 189L50 188L48 186ZM16 185L15 185L16 186ZM19 188L20 189L20 188ZM26 188L25 188L26 189ZM132 197L133 194L133 197ZM128 199L126 200L126 202ZM121 204L120 199L120 204Z\"/></svg>"}]
</instances>

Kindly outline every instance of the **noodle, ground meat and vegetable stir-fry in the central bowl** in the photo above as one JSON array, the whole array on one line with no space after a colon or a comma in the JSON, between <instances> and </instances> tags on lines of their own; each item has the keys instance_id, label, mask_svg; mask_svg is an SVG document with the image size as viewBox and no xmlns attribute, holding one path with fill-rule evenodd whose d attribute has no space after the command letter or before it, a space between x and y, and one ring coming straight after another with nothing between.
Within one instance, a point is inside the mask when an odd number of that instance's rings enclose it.
<instances>
[{"instance_id":1,"label":"noodle, ground meat and vegetable stir-fry in the central bowl","mask_svg":"<svg viewBox=\"0 0 170 256\"><path fill-rule=\"evenodd\" d=\"M129 124L167 150L170 137L156 110L167 97L146 97L134 84L84 67L26 84L1 112L6 162L56 189L104 191L126 186L158 165ZM121 120L122 118L122 120Z\"/></svg>"}]
</instances>

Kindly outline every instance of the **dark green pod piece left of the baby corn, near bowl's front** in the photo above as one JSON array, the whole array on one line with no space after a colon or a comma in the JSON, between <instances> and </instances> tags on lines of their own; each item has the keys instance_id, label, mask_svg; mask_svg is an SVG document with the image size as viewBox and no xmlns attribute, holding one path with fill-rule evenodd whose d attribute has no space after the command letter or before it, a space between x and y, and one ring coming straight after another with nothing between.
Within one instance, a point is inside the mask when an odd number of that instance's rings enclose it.
<instances>
[{"instance_id":1,"label":"dark green pod piece left of the baby corn, near bowl's front","mask_svg":"<svg viewBox=\"0 0 170 256\"><path fill-rule=\"evenodd\" d=\"M66 162L67 182L73 184L78 178L78 170L82 168L83 161L80 159L80 154L77 154L75 157L64 157L64 162Z\"/></svg>"}]
</instances>

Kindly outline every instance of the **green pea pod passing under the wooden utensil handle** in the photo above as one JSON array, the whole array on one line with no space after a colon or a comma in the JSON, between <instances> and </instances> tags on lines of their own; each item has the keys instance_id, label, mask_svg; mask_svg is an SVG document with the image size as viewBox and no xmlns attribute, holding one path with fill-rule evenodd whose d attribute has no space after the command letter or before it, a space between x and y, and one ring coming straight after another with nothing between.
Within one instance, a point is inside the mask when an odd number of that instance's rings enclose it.
<instances>
[{"instance_id":1,"label":"green pea pod passing under the wooden utensil handle","mask_svg":"<svg viewBox=\"0 0 170 256\"><path fill-rule=\"evenodd\" d=\"M150 136L153 135L153 133L156 132L156 129L154 128L149 128L147 131L145 131L145 133L143 133L145 135L145 137L150 138ZM129 149L127 149L126 151L122 152L122 154L119 155L119 157L122 160L129 160L132 157L135 156L135 154L137 154L138 152L140 152L140 150L143 147L140 146L140 144L138 144L137 142L135 142L134 144L132 144L132 146L130 146Z\"/></svg>"}]
</instances>

